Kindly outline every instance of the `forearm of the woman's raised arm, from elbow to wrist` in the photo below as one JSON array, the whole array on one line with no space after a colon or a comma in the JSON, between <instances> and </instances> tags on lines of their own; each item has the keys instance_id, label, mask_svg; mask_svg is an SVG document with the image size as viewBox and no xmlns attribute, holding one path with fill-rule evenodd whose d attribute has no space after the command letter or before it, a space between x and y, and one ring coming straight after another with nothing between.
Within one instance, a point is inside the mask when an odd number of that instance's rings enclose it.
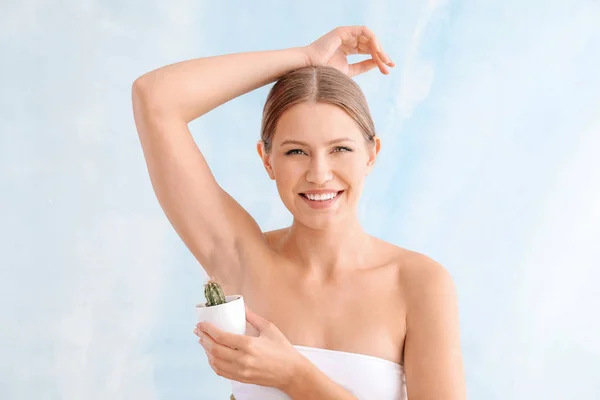
<instances>
[{"instance_id":1,"label":"forearm of the woman's raised arm, from elbow to wrist","mask_svg":"<svg viewBox=\"0 0 600 400\"><path fill-rule=\"evenodd\" d=\"M152 108L191 122L238 96L309 65L304 47L196 58L166 65L134 82Z\"/></svg>"}]
</instances>

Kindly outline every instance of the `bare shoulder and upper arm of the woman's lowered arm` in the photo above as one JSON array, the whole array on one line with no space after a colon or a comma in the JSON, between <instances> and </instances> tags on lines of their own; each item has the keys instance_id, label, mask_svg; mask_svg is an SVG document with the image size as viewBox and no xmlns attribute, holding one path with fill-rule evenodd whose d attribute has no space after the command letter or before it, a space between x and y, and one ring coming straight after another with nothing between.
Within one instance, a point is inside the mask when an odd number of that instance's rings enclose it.
<instances>
[{"instance_id":1,"label":"bare shoulder and upper arm of the woman's lowered arm","mask_svg":"<svg viewBox=\"0 0 600 400\"><path fill-rule=\"evenodd\" d=\"M449 271L431 257L410 252L401 275L408 398L465 399L458 304Z\"/></svg>"}]
</instances>

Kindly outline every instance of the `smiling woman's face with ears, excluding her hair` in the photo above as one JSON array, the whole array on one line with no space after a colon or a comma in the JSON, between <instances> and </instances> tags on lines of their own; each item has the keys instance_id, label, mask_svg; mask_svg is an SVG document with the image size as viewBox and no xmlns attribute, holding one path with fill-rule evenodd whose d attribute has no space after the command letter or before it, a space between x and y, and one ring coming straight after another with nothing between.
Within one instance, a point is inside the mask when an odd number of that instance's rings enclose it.
<instances>
[{"instance_id":1,"label":"smiling woman's face with ears, excluding her hair","mask_svg":"<svg viewBox=\"0 0 600 400\"><path fill-rule=\"evenodd\" d=\"M365 176L379 152L341 108L300 103L279 119L271 152L258 152L294 218L314 229L355 215Z\"/></svg>"}]
</instances>

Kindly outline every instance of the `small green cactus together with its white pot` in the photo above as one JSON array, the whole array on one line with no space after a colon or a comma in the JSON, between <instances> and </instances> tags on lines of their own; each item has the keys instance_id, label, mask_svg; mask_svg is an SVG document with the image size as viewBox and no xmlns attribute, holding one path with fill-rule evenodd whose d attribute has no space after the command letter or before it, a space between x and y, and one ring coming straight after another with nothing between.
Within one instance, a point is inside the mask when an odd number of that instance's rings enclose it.
<instances>
[{"instance_id":1,"label":"small green cactus together with its white pot","mask_svg":"<svg viewBox=\"0 0 600 400\"><path fill-rule=\"evenodd\" d=\"M237 335L246 334L246 307L242 295L226 296L221 285L209 279L204 285L204 297L206 302L196 305L199 322L210 322L223 331Z\"/></svg>"}]
</instances>

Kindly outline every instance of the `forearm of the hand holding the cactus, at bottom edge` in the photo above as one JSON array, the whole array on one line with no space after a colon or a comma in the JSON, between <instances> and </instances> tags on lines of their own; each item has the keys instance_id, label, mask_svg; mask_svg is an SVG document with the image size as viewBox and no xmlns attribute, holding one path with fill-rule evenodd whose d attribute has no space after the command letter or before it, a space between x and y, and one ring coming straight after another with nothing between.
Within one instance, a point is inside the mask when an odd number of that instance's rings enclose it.
<instances>
[{"instance_id":1,"label":"forearm of the hand holding the cactus, at bottom edge","mask_svg":"<svg viewBox=\"0 0 600 400\"><path fill-rule=\"evenodd\" d=\"M296 367L294 380L281 390L293 400L357 400L309 360Z\"/></svg>"}]
</instances>

